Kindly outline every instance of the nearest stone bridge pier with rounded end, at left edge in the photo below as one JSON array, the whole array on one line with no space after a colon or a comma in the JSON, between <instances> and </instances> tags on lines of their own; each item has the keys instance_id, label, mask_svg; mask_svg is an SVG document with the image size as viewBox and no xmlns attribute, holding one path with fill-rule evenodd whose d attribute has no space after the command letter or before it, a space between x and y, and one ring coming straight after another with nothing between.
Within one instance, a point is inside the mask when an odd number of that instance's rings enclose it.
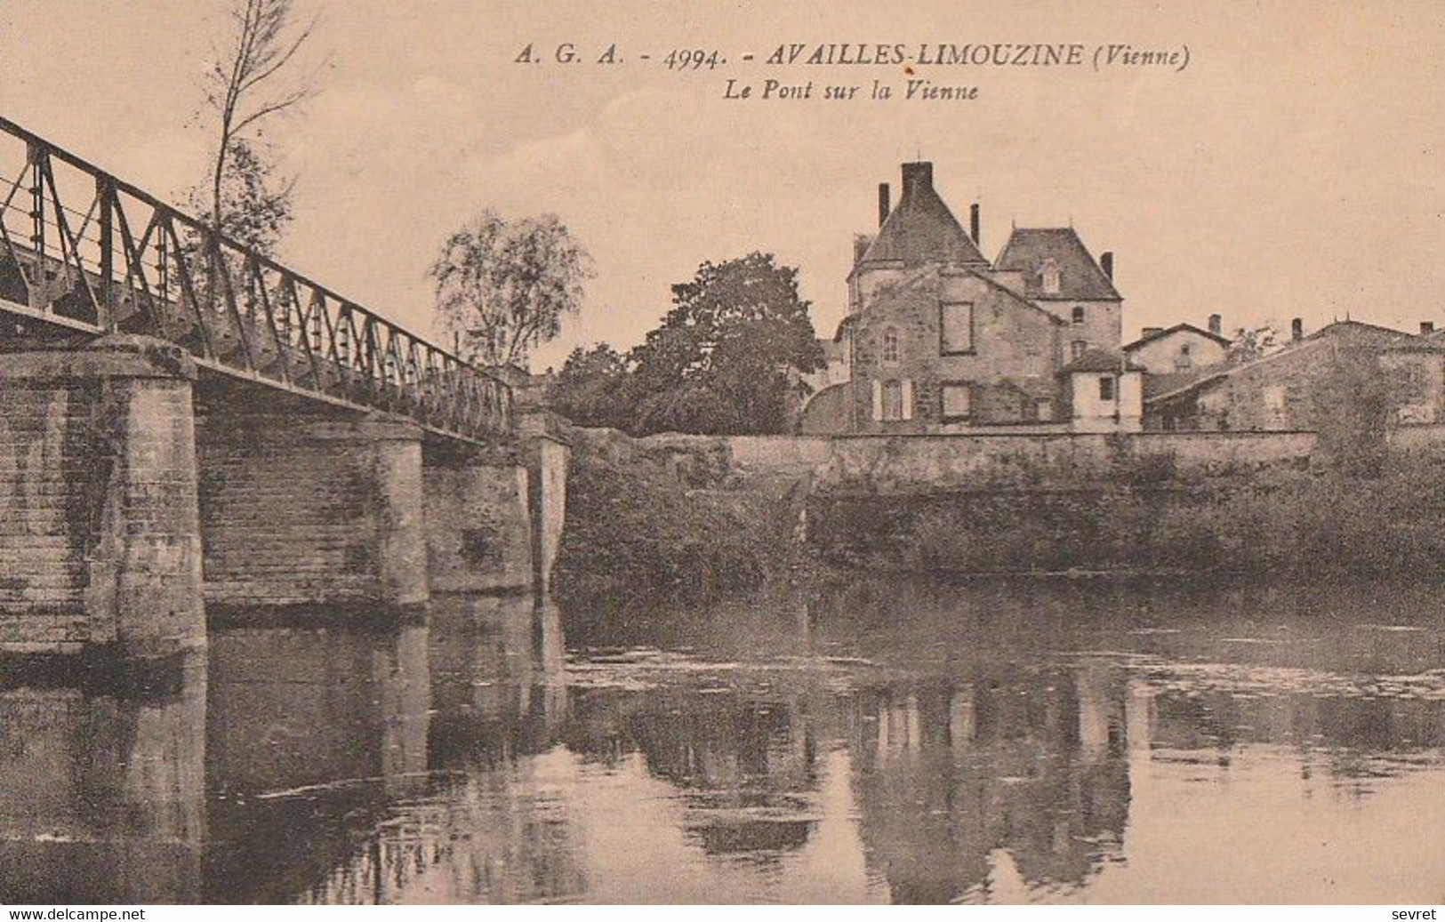
<instances>
[{"instance_id":1,"label":"nearest stone bridge pier with rounded end, at left edge","mask_svg":"<svg viewBox=\"0 0 1445 922\"><path fill-rule=\"evenodd\" d=\"M0 652L205 645L194 380L133 335L3 357Z\"/></svg>"}]
</instances>

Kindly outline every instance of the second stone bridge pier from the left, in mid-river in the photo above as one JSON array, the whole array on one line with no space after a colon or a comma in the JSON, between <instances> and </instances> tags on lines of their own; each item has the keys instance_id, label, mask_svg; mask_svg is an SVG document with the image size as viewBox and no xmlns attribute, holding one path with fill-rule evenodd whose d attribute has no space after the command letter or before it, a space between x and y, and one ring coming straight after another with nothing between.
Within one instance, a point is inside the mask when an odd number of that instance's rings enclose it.
<instances>
[{"instance_id":1,"label":"second stone bridge pier from the left, in mid-river","mask_svg":"<svg viewBox=\"0 0 1445 922\"><path fill-rule=\"evenodd\" d=\"M197 436L207 601L425 601L420 441L396 435L406 438L377 438L366 423L207 413Z\"/></svg>"}]
</instances>

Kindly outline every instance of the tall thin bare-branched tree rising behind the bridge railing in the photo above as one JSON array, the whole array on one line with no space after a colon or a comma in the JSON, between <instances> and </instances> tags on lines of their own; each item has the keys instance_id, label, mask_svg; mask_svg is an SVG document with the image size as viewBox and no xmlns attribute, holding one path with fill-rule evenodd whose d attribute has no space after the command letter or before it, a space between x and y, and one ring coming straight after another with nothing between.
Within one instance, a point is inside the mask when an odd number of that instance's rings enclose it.
<instances>
[{"instance_id":1,"label":"tall thin bare-branched tree rising behind the bridge railing","mask_svg":"<svg viewBox=\"0 0 1445 922\"><path fill-rule=\"evenodd\" d=\"M251 186L264 179L270 168L262 159L249 133L269 119L315 95L312 75L295 75L296 53L311 39L316 19L293 22L293 0L230 0L230 29L224 43L212 48L212 64L205 75L207 107L220 121L215 159L211 163L210 201L211 228L225 231L247 227L246 221L228 220L227 185ZM233 168L247 176L233 179ZM257 176L260 179L257 179ZM279 189L264 189L262 208L273 214L290 215L292 184ZM230 198L236 198L231 195ZM254 201L251 202L254 204ZM240 202L244 207L244 199ZM243 243L269 250L280 233L282 221L262 223L266 233Z\"/></svg>"}]
</instances>

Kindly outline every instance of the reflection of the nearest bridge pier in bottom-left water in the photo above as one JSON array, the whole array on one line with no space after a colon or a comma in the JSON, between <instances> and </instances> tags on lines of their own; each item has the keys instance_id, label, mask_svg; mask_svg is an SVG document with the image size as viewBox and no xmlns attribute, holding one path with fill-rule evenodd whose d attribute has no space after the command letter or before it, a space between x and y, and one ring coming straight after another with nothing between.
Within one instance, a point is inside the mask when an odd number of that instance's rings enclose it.
<instances>
[{"instance_id":1,"label":"reflection of the nearest bridge pier in bottom-left water","mask_svg":"<svg viewBox=\"0 0 1445 922\"><path fill-rule=\"evenodd\" d=\"M205 663L84 678L0 686L0 903L195 902Z\"/></svg>"}]
</instances>

